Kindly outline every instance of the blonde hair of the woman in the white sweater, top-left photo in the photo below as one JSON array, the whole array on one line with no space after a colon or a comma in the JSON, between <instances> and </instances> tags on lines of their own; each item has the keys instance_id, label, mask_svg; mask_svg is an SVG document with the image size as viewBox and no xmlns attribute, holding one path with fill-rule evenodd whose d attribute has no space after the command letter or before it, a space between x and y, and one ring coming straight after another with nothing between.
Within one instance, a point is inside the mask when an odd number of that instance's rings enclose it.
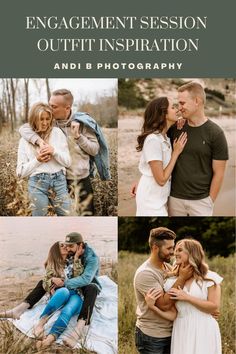
<instances>
[{"instance_id":1,"label":"blonde hair of the woman in the white sweater, top-left photo","mask_svg":"<svg viewBox=\"0 0 236 354\"><path fill-rule=\"evenodd\" d=\"M50 115L50 118L51 118L51 122L50 122L50 125L49 125L49 128L47 129L46 132L39 132L39 119L41 117L41 115L44 113L44 112L47 112L49 115ZM46 104L46 103L42 103L42 102L38 102L38 103L35 103L31 109L30 109L30 112L29 112L29 118L28 118L28 122L29 122L29 125L31 126L31 128L37 132L40 137L42 139L46 139L49 137L50 133L51 133L51 130L52 130L52 121L53 121L53 117L52 117L52 109L51 107Z\"/></svg>"}]
</instances>

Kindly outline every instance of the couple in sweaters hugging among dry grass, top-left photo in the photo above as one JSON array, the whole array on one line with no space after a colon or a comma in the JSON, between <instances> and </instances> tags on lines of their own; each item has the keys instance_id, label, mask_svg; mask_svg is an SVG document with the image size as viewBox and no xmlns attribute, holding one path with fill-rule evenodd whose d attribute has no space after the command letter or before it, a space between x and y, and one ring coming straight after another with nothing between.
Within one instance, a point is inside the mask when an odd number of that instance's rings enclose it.
<instances>
[{"instance_id":1,"label":"couple in sweaters hugging among dry grass, top-left photo","mask_svg":"<svg viewBox=\"0 0 236 354\"><path fill-rule=\"evenodd\" d=\"M93 215L90 177L94 164L102 180L110 179L108 147L96 121L72 113L73 95L60 89L49 104L36 103L28 123L20 128L17 176L28 177L32 216L45 216L49 205L56 215Z\"/></svg>"}]
</instances>

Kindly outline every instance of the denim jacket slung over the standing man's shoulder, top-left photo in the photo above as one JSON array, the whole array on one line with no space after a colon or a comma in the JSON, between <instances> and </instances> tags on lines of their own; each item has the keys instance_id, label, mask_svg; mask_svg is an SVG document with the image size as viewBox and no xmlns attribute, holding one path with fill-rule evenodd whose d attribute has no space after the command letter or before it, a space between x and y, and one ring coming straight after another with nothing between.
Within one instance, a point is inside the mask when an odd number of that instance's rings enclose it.
<instances>
[{"instance_id":1,"label":"denim jacket slung over the standing man's shoulder, top-left photo","mask_svg":"<svg viewBox=\"0 0 236 354\"><path fill-rule=\"evenodd\" d=\"M72 115L71 120L72 121L75 120L79 123L83 123L85 126L92 129L98 139L98 143L100 146L99 152L96 156L90 156L90 176L94 177L95 175L95 168L94 168L94 163L95 163L100 178L103 181L111 179L108 146L104 138L104 135L102 133L102 130L97 124L97 122L92 117L90 117L87 113L84 112L74 113Z\"/></svg>"}]
</instances>

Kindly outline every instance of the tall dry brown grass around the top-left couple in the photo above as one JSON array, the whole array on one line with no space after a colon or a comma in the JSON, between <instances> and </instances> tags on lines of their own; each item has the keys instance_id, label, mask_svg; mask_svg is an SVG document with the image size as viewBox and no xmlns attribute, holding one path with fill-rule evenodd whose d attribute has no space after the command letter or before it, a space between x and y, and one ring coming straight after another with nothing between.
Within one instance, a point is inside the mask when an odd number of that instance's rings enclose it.
<instances>
[{"instance_id":1,"label":"tall dry brown grass around the top-left couple","mask_svg":"<svg viewBox=\"0 0 236 354\"><path fill-rule=\"evenodd\" d=\"M104 134L109 145L111 180L101 181L98 176L92 179L94 190L94 205L96 216L117 215L117 129L104 128ZM0 215L29 216L27 180L16 177L16 161L19 135L11 135L3 130L0 139ZM81 211L83 205L75 205L72 199L72 209ZM49 209L49 215L53 212ZM77 215L73 212L72 215Z\"/></svg>"}]
</instances>

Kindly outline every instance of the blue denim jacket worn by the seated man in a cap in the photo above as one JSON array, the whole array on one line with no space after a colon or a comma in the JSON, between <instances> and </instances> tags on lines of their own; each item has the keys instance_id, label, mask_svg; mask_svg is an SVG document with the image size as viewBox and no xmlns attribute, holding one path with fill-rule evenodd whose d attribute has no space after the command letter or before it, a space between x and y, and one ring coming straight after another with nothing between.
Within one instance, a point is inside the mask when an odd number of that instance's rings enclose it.
<instances>
[{"instance_id":1,"label":"blue denim jacket worn by the seated man in a cap","mask_svg":"<svg viewBox=\"0 0 236 354\"><path fill-rule=\"evenodd\" d=\"M87 244L85 244L82 263L84 266L84 272L77 277L65 280L65 287L68 289L77 289L93 283L97 285L99 290L101 290L102 286L98 281L99 258L94 250Z\"/></svg>"}]
</instances>

